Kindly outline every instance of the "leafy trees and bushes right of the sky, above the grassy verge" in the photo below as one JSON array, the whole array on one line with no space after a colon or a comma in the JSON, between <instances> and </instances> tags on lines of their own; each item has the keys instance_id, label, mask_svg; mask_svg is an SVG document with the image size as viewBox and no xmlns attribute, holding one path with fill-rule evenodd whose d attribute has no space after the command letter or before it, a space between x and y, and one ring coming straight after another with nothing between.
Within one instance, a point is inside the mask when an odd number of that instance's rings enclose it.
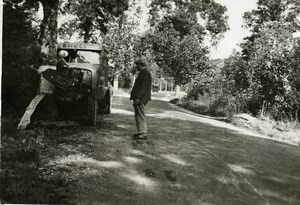
<instances>
[{"instance_id":1,"label":"leafy trees and bushes right of the sky, above the grassy verge","mask_svg":"<svg viewBox=\"0 0 300 205\"><path fill-rule=\"evenodd\" d=\"M223 73L225 87L253 114L299 118L299 40L293 37L299 30L299 6L296 1L260 0L257 10L244 15L251 36L242 44L242 54L226 61Z\"/></svg>"}]
</instances>

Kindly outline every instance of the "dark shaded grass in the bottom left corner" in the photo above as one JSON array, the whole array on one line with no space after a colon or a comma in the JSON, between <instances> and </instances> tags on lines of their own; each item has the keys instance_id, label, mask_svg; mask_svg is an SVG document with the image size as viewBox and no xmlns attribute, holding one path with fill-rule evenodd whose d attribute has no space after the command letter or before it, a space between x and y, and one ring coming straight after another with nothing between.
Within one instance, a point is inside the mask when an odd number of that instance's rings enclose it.
<instances>
[{"instance_id":1,"label":"dark shaded grass in the bottom left corner","mask_svg":"<svg viewBox=\"0 0 300 205\"><path fill-rule=\"evenodd\" d=\"M15 115L1 117L0 204L62 204L67 202L68 186L59 175L43 175L41 152L47 141L41 130L16 130Z\"/></svg>"}]
</instances>

